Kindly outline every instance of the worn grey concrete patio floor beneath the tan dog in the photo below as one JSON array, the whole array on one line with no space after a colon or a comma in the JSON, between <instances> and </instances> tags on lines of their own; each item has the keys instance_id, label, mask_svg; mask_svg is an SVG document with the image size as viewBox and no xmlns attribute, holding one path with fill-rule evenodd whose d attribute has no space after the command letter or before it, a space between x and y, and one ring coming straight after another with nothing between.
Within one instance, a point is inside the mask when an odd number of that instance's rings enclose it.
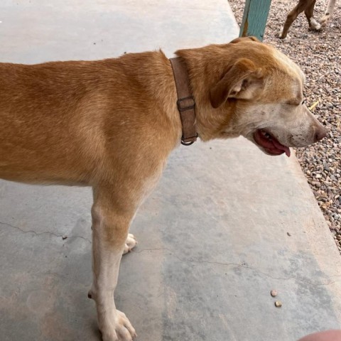
<instances>
[{"instance_id":1,"label":"worn grey concrete patio floor beneath the tan dog","mask_svg":"<svg viewBox=\"0 0 341 341\"><path fill-rule=\"evenodd\" d=\"M171 57L239 33L224 0L2 0L0 21L0 61L12 63ZM0 180L1 341L100 340L87 298L91 205L90 188ZM341 328L340 255L294 156L242 138L181 146L131 232L139 245L115 294L137 341L295 341Z\"/></svg>"}]
</instances>

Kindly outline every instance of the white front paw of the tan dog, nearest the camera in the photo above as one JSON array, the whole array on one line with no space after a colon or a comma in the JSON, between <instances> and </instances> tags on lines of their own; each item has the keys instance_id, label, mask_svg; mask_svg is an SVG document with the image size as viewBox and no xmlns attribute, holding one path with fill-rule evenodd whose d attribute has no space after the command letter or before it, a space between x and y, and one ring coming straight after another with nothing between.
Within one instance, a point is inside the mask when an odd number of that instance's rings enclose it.
<instances>
[{"instance_id":1,"label":"white front paw of the tan dog, nearest the camera","mask_svg":"<svg viewBox=\"0 0 341 341\"><path fill-rule=\"evenodd\" d=\"M103 341L132 341L136 332L126 314L116 310L114 323L100 328Z\"/></svg>"}]
</instances>

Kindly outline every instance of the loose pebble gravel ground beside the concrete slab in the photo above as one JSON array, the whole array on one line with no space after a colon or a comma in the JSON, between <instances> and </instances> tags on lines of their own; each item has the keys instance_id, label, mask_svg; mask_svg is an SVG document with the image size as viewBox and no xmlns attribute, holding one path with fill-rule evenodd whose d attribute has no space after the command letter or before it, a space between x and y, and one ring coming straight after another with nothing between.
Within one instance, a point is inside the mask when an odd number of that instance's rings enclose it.
<instances>
[{"instance_id":1,"label":"loose pebble gravel ground beside the concrete slab","mask_svg":"<svg viewBox=\"0 0 341 341\"><path fill-rule=\"evenodd\" d=\"M322 31L308 30L301 13L281 40L278 32L298 0L272 0L264 43L276 46L301 66L306 76L305 102L327 127L320 143L298 148L296 156L328 222L341 253L341 1L336 1L332 19ZM322 18L327 0L317 0L314 16ZM239 25L245 1L229 0Z\"/></svg>"}]
</instances>

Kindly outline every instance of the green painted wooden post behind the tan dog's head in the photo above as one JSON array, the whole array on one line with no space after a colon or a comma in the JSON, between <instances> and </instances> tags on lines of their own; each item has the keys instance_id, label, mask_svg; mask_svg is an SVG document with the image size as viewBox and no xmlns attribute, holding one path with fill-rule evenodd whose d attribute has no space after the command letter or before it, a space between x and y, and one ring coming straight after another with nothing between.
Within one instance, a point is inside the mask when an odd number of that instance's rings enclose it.
<instances>
[{"instance_id":1,"label":"green painted wooden post behind the tan dog's head","mask_svg":"<svg viewBox=\"0 0 341 341\"><path fill-rule=\"evenodd\" d=\"M246 0L239 37L256 36L263 40L271 0Z\"/></svg>"}]
</instances>

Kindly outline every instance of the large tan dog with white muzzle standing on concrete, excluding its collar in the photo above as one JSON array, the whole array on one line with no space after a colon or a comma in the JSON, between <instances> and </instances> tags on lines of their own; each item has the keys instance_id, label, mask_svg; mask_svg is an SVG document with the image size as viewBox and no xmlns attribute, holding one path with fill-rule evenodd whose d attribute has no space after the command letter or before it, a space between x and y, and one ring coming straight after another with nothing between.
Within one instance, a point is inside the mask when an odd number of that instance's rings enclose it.
<instances>
[{"instance_id":1,"label":"large tan dog with white muzzle standing on concrete, excluding its collar","mask_svg":"<svg viewBox=\"0 0 341 341\"><path fill-rule=\"evenodd\" d=\"M325 136L303 104L303 72L255 38L178 50L202 141L245 136L271 155ZM113 294L129 226L154 188L182 126L161 52L39 65L0 64L0 176L93 188L93 273L104 341L136 334Z\"/></svg>"}]
</instances>

